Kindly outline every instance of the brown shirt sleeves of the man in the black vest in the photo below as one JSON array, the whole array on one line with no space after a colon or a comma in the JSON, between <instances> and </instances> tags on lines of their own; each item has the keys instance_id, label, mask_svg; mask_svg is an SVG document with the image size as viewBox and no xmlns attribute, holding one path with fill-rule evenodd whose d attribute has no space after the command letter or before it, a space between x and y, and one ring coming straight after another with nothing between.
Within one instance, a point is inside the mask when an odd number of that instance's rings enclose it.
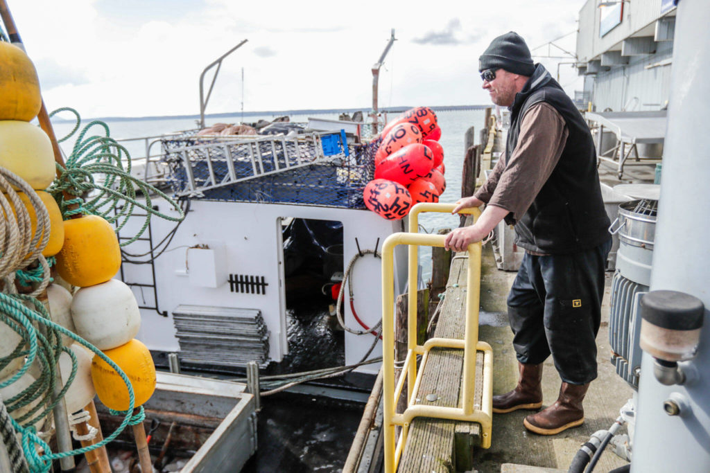
<instances>
[{"instance_id":1,"label":"brown shirt sleeves of the man in the black vest","mask_svg":"<svg viewBox=\"0 0 710 473\"><path fill-rule=\"evenodd\" d=\"M520 220L555 169L568 134L564 118L550 104L530 106L521 118L513 154L501 155L474 196Z\"/></svg>"}]
</instances>

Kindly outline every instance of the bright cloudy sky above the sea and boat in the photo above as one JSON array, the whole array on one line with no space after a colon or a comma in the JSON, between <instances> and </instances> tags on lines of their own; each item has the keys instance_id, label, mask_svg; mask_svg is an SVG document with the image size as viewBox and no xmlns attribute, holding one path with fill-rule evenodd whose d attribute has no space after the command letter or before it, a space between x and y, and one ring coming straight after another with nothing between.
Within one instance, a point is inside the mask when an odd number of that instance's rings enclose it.
<instances>
[{"instance_id":1,"label":"bright cloudy sky above the sea and boat","mask_svg":"<svg viewBox=\"0 0 710 473\"><path fill-rule=\"evenodd\" d=\"M487 104L477 67L490 40L515 30L535 48L567 35L555 44L574 52L584 1L8 3L48 108L105 117L199 113L202 69L244 39L224 60L207 113L241 110L242 68L245 111L369 108L371 67L392 28L397 41L381 69L380 106ZM536 60L553 75L557 62L569 62ZM570 65L559 69L570 93L581 87Z\"/></svg>"}]
</instances>

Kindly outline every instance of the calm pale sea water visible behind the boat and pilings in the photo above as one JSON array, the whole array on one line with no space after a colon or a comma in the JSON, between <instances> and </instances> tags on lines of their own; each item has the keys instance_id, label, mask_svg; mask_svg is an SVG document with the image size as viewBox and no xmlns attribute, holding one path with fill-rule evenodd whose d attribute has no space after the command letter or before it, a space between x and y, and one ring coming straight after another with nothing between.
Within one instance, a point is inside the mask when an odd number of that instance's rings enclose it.
<instances>
[{"instance_id":1,"label":"calm pale sea water visible behind the boat and pilings","mask_svg":"<svg viewBox=\"0 0 710 473\"><path fill-rule=\"evenodd\" d=\"M285 113L274 113L270 115L263 116L245 116L244 121L246 123L256 122L260 118L264 120L271 121L276 116L283 116ZM309 115L291 114L291 121L305 122L307 121ZM319 114L320 118L331 118L337 119L337 113L332 114ZM64 116L62 116L63 118ZM391 116L390 118L393 118ZM68 117L67 117L68 118ZM439 126L442 129L442 137L439 143L442 144L444 148L444 165L446 165L446 179L447 179L447 189L442 194L440 201L442 202L455 202L461 197L461 171L463 168L464 159L464 134L466 130L473 126L476 130L474 133L476 137L476 143L479 139L479 130L484 125L484 111L483 110L471 110L471 111L443 111L437 113L437 118L439 121ZM220 118L207 118L205 123L211 125L217 122L224 123L238 123L241 121L241 115L235 114L231 117L220 117ZM88 120L82 122L82 127L89 123ZM121 119L121 120L107 120L105 121L109 126L111 136L117 140L124 138L142 138L146 136L158 136L164 133L173 133L180 130L190 130L196 128L196 122L194 118L135 118L135 119ZM58 138L70 133L72 128L74 128L74 123L67 123L65 121L55 121L54 123L55 133ZM92 130L94 133L89 133L89 135L100 133L99 128ZM62 148L65 152L70 152L74 138L76 134L72 136L65 143L62 143ZM131 141L124 143L126 148L131 152L134 157L143 157L144 144L143 141ZM437 213L426 213L420 217L420 224L424 227L424 231L436 232L439 228L455 228L459 224L459 218L457 216L450 216L447 214L437 214ZM430 277L430 250L427 248L422 248L420 251L420 264L422 265L422 277L426 281Z\"/></svg>"}]
</instances>

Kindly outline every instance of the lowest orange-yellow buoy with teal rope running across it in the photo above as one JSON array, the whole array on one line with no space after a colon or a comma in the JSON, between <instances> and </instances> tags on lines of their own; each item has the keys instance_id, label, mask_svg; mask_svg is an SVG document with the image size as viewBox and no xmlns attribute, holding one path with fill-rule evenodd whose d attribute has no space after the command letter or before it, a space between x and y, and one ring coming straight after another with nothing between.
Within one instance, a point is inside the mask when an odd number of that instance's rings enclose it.
<instances>
[{"instance_id":1,"label":"lowest orange-yellow buoy with teal rope running across it","mask_svg":"<svg viewBox=\"0 0 710 473\"><path fill-rule=\"evenodd\" d=\"M151 399L155 391L155 365L146 345L133 338L126 345L106 350L104 355L129 378L135 396L133 407L141 406ZM115 369L101 357L94 356L91 374L96 394L105 406L115 411L126 411L129 408L128 389Z\"/></svg>"}]
</instances>

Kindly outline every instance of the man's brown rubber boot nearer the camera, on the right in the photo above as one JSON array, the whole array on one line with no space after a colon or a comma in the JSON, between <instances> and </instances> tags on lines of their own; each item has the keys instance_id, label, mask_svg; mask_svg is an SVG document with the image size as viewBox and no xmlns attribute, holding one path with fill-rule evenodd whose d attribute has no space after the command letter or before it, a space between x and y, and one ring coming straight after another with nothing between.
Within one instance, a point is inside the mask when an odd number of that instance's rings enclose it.
<instances>
[{"instance_id":1,"label":"man's brown rubber boot nearer the camera, on the right","mask_svg":"<svg viewBox=\"0 0 710 473\"><path fill-rule=\"evenodd\" d=\"M555 404L542 411L530 414L523 421L525 428L540 435L555 435L577 427L584 423L584 409L581 401L584 400L587 384L562 383L559 388L559 397Z\"/></svg>"}]
</instances>

